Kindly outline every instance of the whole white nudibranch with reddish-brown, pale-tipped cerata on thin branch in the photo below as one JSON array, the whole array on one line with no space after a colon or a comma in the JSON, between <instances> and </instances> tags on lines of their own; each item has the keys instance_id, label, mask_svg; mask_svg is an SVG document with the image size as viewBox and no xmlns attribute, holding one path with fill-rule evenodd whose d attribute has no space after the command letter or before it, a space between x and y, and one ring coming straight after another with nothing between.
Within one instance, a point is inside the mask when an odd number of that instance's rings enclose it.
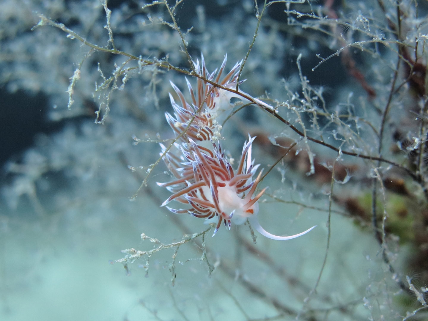
<instances>
[{"instance_id":1,"label":"whole white nudibranch with reddish-brown, pale-tipped cerata on thin branch","mask_svg":"<svg viewBox=\"0 0 428 321\"><path fill-rule=\"evenodd\" d=\"M220 80L226 66L226 58L217 73L217 69L209 74L202 56L202 64L196 60L196 72L210 81L230 88L236 87L238 81L237 70L241 62L235 64L231 71ZM224 116L231 110L230 98L235 93L213 87L210 83L197 80L197 89L193 91L187 80L187 86L192 99L189 104L180 89L171 83L178 95L181 106L175 103L170 95L175 118L166 113L166 120L177 135L185 131L180 142L175 143L175 151L168 151L163 160L175 180L167 183L158 183L166 187L172 195L161 206L171 201L186 204L188 208L169 208L175 214L191 214L205 218L206 223L217 222L213 236L217 233L221 223L230 230L232 222L236 225L247 220L262 235L275 240L289 240L309 232L314 227L297 235L277 236L266 232L257 220L259 212L259 198L267 187L255 194L261 180L262 170L255 180L253 176L259 165L254 165L251 157L252 143L256 137L248 137L244 143L238 168L233 169L229 160L224 156L218 138L221 137L221 126L217 123L219 115ZM196 93L195 93L196 92ZM190 120L193 119L189 126ZM186 130L187 126L189 128ZM166 151L162 148L161 155Z\"/></svg>"}]
</instances>

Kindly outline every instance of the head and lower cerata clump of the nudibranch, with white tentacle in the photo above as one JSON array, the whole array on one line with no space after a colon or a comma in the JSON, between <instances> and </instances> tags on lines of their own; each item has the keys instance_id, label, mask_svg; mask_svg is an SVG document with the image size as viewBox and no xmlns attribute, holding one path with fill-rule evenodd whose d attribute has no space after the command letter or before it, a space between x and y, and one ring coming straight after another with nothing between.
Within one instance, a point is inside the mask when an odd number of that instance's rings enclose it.
<instances>
[{"instance_id":1,"label":"head and lower cerata clump of the nudibranch, with white tentacle","mask_svg":"<svg viewBox=\"0 0 428 321\"><path fill-rule=\"evenodd\" d=\"M158 183L173 193L161 206L175 200L187 204L190 208L174 209L167 206L172 213L191 214L205 218L207 223L217 221L213 236L222 222L230 230L232 222L241 225L247 219L260 234L274 240L290 240L312 230L315 226L296 235L277 236L260 226L257 220L258 200L268 187L254 196L262 175L261 170L253 180L253 175L259 167L254 165L254 160L251 159L251 147L255 138L250 137L249 141L244 143L237 170L234 170L225 158L219 143L213 143L213 151L197 145L193 140L183 143L182 146L176 144L181 151L181 157L167 152L163 158L175 180ZM162 149L164 152L165 146L162 146Z\"/></svg>"}]
</instances>

